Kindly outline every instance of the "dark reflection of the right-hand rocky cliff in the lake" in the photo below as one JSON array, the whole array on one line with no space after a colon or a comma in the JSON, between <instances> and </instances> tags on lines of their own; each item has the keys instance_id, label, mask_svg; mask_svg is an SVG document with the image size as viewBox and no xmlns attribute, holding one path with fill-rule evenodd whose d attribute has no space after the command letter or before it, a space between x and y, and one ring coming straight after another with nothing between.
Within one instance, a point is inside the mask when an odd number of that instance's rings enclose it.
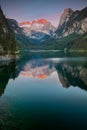
<instances>
[{"instance_id":1,"label":"dark reflection of the right-hand rocky cliff in the lake","mask_svg":"<svg viewBox=\"0 0 87 130\"><path fill-rule=\"evenodd\" d=\"M87 63L70 62L56 66L63 87L78 86L87 90Z\"/></svg>"}]
</instances>

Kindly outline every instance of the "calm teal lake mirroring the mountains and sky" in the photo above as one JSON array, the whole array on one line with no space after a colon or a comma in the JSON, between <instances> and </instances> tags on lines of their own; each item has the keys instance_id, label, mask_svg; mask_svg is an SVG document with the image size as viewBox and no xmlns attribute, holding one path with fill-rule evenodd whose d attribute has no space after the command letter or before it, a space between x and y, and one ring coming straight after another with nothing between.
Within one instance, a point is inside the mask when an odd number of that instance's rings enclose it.
<instances>
[{"instance_id":1,"label":"calm teal lake mirroring the mountains and sky","mask_svg":"<svg viewBox=\"0 0 87 130\"><path fill-rule=\"evenodd\" d=\"M87 54L0 62L0 130L87 130Z\"/></svg>"}]
</instances>

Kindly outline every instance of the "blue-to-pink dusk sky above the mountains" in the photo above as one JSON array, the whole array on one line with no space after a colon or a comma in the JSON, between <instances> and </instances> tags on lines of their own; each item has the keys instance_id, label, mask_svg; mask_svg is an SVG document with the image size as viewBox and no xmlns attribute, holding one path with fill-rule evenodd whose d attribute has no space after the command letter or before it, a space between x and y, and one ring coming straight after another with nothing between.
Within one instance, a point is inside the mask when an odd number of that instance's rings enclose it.
<instances>
[{"instance_id":1,"label":"blue-to-pink dusk sky above the mountains","mask_svg":"<svg viewBox=\"0 0 87 130\"><path fill-rule=\"evenodd\" d=\"M82 9L87 0L0 0L4 14L18 22L45 18L57 26L63 10Z\"/></svg>"}]
</instances>

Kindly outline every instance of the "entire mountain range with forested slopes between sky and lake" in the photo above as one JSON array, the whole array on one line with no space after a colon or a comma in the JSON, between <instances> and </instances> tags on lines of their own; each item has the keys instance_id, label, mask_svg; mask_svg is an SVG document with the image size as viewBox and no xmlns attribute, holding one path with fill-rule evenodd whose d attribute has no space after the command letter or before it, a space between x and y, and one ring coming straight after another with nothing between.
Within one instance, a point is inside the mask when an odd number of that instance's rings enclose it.
<instances>
[{"instance_id":1,"label":"entire mountain range with forested slopes between sky and lake","mask_svg":"<svg viewBox=\"0 0 87 130\"><path fill-rule=\"evenodd\" d=\"M46 19L19 24L6 19L1 8L0 19L0 45L4 50L16 46L15 38L22 49L87 50L87 7L80 11L65 9L57 28Z\"/></svg>"}]
</instances>

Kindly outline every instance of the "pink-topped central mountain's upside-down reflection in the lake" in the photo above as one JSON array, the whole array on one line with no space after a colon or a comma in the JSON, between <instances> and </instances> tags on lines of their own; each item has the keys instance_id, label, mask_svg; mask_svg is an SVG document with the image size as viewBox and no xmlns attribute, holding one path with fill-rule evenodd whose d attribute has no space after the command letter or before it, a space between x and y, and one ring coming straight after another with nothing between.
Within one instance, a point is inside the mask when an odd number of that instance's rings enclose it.
<instances>
[{"instance_id":1,"label":"pink-topped central mountain's upside-down reflection in the lake","mask_svg":"<svg viewBox=\"0 0 87 130\"><path fill-rule=\"evenodd\" d=\"M33 59L25 64L20 72L22 76L32 76L40 79L49 77L55 71L54 64L44 59Z\"/></svg>"}]
</instances>

